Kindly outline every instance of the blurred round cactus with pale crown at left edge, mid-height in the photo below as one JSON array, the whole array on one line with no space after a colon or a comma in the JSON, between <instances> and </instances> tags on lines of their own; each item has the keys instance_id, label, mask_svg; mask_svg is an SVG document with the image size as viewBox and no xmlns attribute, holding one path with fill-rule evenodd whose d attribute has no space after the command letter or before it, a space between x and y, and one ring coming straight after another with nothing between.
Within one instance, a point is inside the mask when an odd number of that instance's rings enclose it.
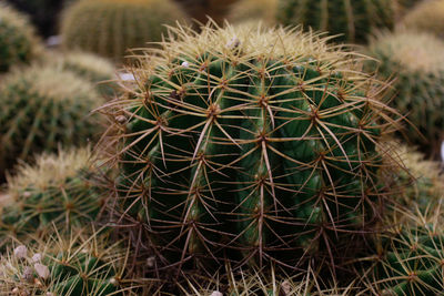
<instances>
[{"instance_id":1,"label":"blurred round cactus with pale crown at left edge, mid-height","mask_svg":"<svg viewBox=\"0 0 444 296\"><path fill-rule=\"evenodd\" d=\"M81 146L101 131L90 112L103 99L90 82L52 67L4 76L0 86L0 175L17 160L58 146Z\"/></svg>"}]
</instances>

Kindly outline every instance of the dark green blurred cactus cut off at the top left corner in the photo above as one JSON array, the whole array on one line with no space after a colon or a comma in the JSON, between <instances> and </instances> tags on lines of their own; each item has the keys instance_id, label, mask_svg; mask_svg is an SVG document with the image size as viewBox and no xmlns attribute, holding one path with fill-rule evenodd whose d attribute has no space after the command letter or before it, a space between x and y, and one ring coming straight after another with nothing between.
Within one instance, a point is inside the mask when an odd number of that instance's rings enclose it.
<instances>
[{"instance_id":1,"label":"dark green blurred cactus cut off at the top left corner","mask_svg":"<svg viewBox=\"0 0 444 296\"><path fill-rule=\"evenodd\" d=\"M39 40L27 18L0 3L0 72L11 65L28 63L41 50Z\"/></svg>"}]
</instances>

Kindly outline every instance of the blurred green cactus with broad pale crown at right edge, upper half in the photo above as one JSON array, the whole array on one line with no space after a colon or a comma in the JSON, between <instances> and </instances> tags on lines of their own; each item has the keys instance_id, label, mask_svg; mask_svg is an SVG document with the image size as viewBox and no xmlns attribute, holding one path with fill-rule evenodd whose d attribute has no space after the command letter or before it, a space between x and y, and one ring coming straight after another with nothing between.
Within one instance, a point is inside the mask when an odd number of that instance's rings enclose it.
<instances>
[{"instance_id":1,"label":"blurred green cactus with broad pale crown at right edge, upper half","mask_svg":"<svg viewBox=\"0 0 444 296\"><path fill-rule=\"evenodd\" d=\"M404 135L427 156L444 140L444 43L433 35L400 31L371 41L381 79L393 81L392 105L407 115Z\"/></svg>"}]
</instances>

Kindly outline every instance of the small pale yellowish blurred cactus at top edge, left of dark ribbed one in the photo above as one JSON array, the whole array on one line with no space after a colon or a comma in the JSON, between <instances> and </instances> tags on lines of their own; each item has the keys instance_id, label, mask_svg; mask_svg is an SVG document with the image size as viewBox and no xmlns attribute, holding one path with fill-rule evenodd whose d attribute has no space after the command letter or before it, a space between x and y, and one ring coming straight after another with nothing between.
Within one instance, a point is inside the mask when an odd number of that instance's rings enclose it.
<instances>
[{"instance_id":1,"label":"small pale yellowish blurred cactus at top edge, left of dark ribbed one","mask_svg":"<svg viewBox=\"0 0 444 296\"><path fill-rule=\"evenodd\" d=\"M278 0L240 0L231 7L226 19L232 23L262 21L272 25L276 9Z\"/></svg>"}]
</instances>

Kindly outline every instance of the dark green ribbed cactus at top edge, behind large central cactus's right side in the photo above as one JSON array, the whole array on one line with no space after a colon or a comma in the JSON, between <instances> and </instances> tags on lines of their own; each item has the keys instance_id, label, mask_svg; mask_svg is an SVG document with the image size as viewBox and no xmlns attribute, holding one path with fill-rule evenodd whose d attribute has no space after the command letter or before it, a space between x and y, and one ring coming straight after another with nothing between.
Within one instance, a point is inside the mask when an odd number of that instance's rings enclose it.
<instances>
[{"instance_id":1,"label":"dark green ribbed cactus at top edge, behind large central cactus's right side","mask_svg":"<svg viewBox=\"0 0 444 296\"><path fill-rule=\"evenodd\" d=\"M372 28L392 28L392 0L280 0L278 21L342 34L336 41L365 43Z\"/></svg>"}]
</instances>

